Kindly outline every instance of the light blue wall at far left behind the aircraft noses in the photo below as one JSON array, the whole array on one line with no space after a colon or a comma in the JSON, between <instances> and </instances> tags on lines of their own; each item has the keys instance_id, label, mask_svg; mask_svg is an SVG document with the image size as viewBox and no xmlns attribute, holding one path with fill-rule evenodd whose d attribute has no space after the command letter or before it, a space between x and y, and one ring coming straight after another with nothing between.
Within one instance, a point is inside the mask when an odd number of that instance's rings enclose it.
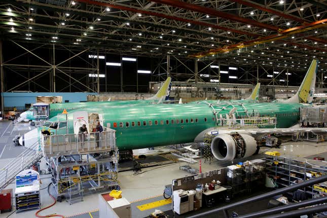
<instances>
[{"instance_id":1,"label":"light blue wall at far left behind the aircraft noses","mask_svg":"<svg viewBox=\"0 0 327 218\"><path fill-rule=\"evenodd\" d=\"M88 95L97 95L94 92L4 92L4 106L14 107L18 110L24 110L25 104L33 104L37 102L38 96L62 96L62 102L86 101Z\"/></svg>"}]
</instances>

